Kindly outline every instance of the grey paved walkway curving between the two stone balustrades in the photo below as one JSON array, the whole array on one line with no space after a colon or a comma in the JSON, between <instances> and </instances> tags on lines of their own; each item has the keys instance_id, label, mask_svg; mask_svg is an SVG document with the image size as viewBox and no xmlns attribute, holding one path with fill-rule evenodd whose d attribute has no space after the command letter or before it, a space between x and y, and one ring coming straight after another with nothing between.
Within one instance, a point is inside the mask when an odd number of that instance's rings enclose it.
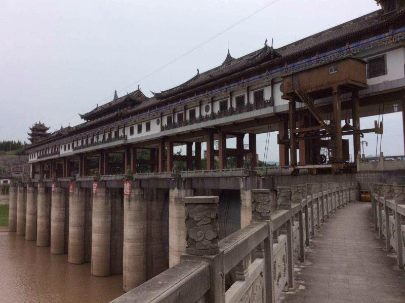
<instances>
[{"instance_id":1,"label":"grey paved walkway curving between the two stone balustrades","mask_svg":"<svg viewBox=\"0 0 405 303\"><path fill-rule=\"evenodd\" d=\"M296 267L297 290L280 302L405 302L405 271L374 230L370 203L351 203L327 218Z\"/></svg>"}]
</instances>

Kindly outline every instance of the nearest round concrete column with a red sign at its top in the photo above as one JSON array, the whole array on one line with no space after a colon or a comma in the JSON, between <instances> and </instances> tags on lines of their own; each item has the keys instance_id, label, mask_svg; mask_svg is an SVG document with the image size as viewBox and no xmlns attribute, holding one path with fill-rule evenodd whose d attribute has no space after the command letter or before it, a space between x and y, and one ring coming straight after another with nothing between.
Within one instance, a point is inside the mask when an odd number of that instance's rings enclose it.
<instances>
[{"instance_id":1,"label":"nearest round concrete column with a red sign at its top","mask_svg":"<svg viewBox=\"0 0 405 303\"><path fill-rule=\"evenodd\" d=\"M146 281L146 201L142 188L133 188L124 197L125 292Z\"/></svg>"}]
</instances>

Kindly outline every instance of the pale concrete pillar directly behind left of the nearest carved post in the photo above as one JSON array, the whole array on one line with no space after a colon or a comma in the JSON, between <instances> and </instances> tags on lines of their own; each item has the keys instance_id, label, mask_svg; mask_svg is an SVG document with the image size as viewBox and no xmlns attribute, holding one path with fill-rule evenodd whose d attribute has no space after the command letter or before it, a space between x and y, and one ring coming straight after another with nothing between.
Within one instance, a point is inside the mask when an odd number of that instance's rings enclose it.
<instances>
[{"instance_id":1,"label":"pale concrete pillar directly behind left of the nearest carved post","mask_svg":"<svg viewBox=\"0 0 405 303\"><path fill-rule=\"evenodd\" d=\"M169 267L180 262L186 248L184 199L193 196L191 180L173 179L169 191Z\"/></svg>"}]
</instances>

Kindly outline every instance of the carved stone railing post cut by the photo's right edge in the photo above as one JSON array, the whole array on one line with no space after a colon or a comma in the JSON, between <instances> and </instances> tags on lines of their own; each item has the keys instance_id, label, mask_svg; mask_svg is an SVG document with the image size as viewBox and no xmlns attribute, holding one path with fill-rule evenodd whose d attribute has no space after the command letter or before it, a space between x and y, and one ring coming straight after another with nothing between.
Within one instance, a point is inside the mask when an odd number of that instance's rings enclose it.
<instances>
[{"instance_id":1,"label":"carved stone railing post cut by the photo's right edge","mask_svg":"<svg viewBox=\"0 0 405 303\"><path fill-rule=\"evenodd\" d=\"M394 184L393 199L395 203L395 233L396 233L396 256L397 265L403 268L403 238L402 238L402 224L405 224L403 216L397 211L398 205L405 204L405 184Z\"/></svg>"}]
</instances>

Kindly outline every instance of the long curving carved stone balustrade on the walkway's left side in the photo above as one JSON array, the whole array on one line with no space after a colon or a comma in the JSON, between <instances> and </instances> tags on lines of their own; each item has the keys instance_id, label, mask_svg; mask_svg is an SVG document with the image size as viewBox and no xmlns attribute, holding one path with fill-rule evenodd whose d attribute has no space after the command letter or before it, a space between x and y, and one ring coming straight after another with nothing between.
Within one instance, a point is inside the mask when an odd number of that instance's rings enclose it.
<instances>
[{"instance_id":1,"label":"long curving carved stone balustrade on the walkway's left side","mask_svg":"<svg viewBox=\"0 0 405 303\"><path fill-rule=\"evenodd\" d=\"M219 198L187 197L187 246L180 262L114 302L276 302L294 287L294 264L304 261L309 235L355 200L354 188L278 187L275 201L269 190L252 190L251 223L220 241Z\"/></svg>"}]
</instances>

